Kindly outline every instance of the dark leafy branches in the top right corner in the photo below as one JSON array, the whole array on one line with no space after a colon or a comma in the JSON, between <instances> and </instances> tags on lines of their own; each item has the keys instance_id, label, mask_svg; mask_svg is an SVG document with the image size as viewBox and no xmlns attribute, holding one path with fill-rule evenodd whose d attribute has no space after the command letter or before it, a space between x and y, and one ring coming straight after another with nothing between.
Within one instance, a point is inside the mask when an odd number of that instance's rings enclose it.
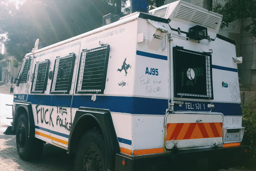
<instances>
[{"instance_id":1,"label":"dark leafy branches in the top right corner","mask_svg":"<svg viewBox=\"0 0 256 171\"><path fill-rule=\"evenodd\" d=\"M237 19L251 18L252 22L245 29L249 34L256 38L256 0L224 0L224 5L215 1L212 11L223 15L220 28Z\"/></svg>"}]
</instances>

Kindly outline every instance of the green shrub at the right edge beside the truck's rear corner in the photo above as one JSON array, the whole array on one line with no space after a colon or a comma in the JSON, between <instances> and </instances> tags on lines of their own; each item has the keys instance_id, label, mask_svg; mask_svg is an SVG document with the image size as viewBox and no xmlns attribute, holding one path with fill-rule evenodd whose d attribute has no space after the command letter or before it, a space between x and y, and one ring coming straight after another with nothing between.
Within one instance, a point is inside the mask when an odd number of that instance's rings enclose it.
<instances>
[{"instance_id":1,"label":"green shrub at the right edge beside the truck's rear corner","mask_svg":"<svg viewBox=\"0 0 256 171\"><path fill-rule=\"evenodd\" d=\"M242 143L249 145L250 161L256 161L256 98L242 105L242 125L245 127Z\"/></svg>"}]
</instances>

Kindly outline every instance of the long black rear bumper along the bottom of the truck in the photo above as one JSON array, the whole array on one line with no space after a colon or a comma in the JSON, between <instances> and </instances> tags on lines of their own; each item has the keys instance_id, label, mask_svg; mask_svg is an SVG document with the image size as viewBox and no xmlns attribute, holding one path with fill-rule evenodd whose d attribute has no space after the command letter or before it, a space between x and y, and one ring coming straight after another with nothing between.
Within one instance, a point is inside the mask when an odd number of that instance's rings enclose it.
<instances>
[{"instance_id":1,"label":"long black rear bumper along the bottom of the truck","mask_svg":"<svg viewBox=\"0 0 256 171\"><path fill-rule=\"evenodd\" d=\"M240 145L143 156L116 154L115 170L218 170L244 163L248 157L245 149L247 146Z\"/></svg>"}]
</instances>

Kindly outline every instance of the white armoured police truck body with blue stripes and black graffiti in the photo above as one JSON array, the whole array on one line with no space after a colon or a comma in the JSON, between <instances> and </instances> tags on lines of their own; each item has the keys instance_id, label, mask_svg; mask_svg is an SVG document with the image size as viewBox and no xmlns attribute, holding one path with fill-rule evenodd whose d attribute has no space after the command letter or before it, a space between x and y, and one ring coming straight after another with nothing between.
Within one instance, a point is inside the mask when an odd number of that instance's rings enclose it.
<instances>
[{"instance_id":1,"label":"white armoured police truck body with blue stripes and black graffiti","mask_svg":"<svg viewBox=\"0 0 256 171\"><path fill-rule=\"evenodd\" d=\"M19 76L24 74L26 60L30 62L28 76L15 88L14 108L17 103L31 103L36 138L68 149L76 111L79 107L92 107L109 109L120 152L130 156L168 153L172 148L239 145L244 130L237 74L240 61L235 45L217 37L222 15L184 1L149 13L146 16L150 17L145 18L135 12L26 54ZM151 18L157 15L170 22ZM195 25L207 28L208 39L187 37L186 32ZM109 47L103 93L102 90L82 91L79 89L82 60L89 54L86 50L98 47ZM200 61L185 61L185 55L194 55ZM64 65L62 71L58 68L64 56L70 59L74 56L70 75L70 69L65 72ZM45 73L43 69L39 73L35 67L43 61L48 62L48 70L45 66ZM66 88L69 92L54 91L56 82L62 75L65 78L65 73L71 82ZM198 74L206 78L199 82ZM43 81L38 82L36 75L43 75ZM33 89L37 82L44 83L44 88L38 85L39 91Z\"/></svg>"}]
</instances>

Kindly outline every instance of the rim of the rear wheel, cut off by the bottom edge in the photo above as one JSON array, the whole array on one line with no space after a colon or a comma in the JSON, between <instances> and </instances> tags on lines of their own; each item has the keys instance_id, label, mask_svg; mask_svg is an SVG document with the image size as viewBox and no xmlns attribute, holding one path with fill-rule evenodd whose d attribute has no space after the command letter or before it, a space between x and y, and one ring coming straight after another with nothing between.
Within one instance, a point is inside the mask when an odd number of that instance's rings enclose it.
<instances>
[{"instance_id":1,"label":"rim of the rear wheel, cut off by the bottom edge","mask_svg":"<svg viewBox=\"0 0 256 171\"><path fill-rule=\"evenodd\" d=\"M83 171L101 171L102 159L99 152L93 146L89 146L83 153Z\"/></svg>"}]
</instances>

